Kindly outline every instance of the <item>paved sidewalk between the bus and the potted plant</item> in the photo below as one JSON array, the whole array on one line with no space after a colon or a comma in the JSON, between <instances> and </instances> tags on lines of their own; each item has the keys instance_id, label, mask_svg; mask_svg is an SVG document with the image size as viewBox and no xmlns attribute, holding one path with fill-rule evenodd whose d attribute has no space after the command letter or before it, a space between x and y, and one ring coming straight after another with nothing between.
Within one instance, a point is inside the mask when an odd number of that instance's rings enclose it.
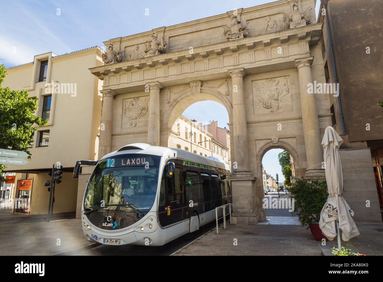
<instances>
[{"instance_id":1,"label":"paved sidewalk between the bus and the potted plant","mask_svg":"<svg viewBox=\"0 0 383 282\"><path fill-rule=\"evenodd\" d=\"M299 221L298 221L299 223ZM176 256L322 256L309 230L301 225L223 224L206 233ZM234 242L237 239L237 246Z\"/></svg>"}]
</instances>

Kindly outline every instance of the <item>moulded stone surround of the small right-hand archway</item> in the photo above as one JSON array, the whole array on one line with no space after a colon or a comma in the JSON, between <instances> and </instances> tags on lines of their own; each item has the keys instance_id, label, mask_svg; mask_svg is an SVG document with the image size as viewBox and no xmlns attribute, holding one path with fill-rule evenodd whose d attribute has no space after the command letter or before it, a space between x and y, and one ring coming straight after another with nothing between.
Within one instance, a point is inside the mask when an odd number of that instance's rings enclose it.
<instances>
[{"instance_id":1,"label":"moulded stone surround of the small right-hand archway","mask_svg":"<svg viewBox=\"0 0 383 282\"><path fill-rule=\"evenodd\" d=\"M262 181L262 159L266 152L272 149L283 149L286 150L293 157L293 166L296 172L300 172L299 170L299 160L298 160L298 151L296 148L285 140L280 140L279 138L272 138L270 141L265 142L260 148L257 149L257 175L260 181L255 182L255 194L257 195L256 199L258 200L257 209L259 221L266 220L266 212L263 208L263 181Z\"/></svg>"}]
</instances>

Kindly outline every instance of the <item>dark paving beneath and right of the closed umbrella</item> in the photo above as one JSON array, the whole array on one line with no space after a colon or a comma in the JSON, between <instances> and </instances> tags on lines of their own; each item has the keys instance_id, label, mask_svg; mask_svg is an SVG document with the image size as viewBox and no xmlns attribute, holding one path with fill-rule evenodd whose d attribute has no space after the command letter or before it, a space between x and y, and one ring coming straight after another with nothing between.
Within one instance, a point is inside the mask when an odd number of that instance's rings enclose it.
<instances>
[{"instance_id":1,"label":"dark paving beneath and right of the closed umbrella","mask_svg":"<svg viewBox=\"0 0 383 282\"><path fill-rule=\"evenodd\" d=\"M351 249L354 253L365 254L367 256L383 256L383 223L381 222L355 222L360 235L351 238L350 241L342 241L342 246ZM337 238L326 242L326 246L322 246L318 242L318 246L322 249L325 256L332 256L331 248L338 248Z\"/></svg>"}]
</instances>

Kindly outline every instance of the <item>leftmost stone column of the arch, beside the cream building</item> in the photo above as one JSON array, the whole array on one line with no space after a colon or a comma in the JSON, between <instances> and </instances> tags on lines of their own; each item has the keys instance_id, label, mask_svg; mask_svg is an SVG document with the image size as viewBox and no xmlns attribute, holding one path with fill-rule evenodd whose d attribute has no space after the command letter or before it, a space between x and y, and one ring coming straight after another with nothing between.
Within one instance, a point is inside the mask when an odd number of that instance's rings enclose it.
<instances>
[{"instance_id":1,"label":"leftmost stone column of the arch, beside the cream building","mask_svg":"<svg viewBox=\"0 0 383 282\"><path fill-rule=\"evenodd\" d=\"M98 159L111 152L112 146L112 121L113 121L113 99L117 93L111 89L102 92L100 142L98 145Z\"/></svg>"}]
</instances>

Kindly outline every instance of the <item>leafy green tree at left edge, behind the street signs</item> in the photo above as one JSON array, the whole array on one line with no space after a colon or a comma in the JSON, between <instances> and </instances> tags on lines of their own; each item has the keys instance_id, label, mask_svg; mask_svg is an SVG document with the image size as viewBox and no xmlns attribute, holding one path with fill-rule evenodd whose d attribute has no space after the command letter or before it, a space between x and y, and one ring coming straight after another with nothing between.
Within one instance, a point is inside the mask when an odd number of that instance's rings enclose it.
<instances>
[{"instance_id":1,"label":"leafy green tree at left edge, behind the street signs","mask_svg":"<svg viewBox=\"0 0 383 282\"><path fill-rule=\"evenodd\" d=\"M29 99L25 90L11 90L2 87L7 76L4 65L0 65L0 148L24 151L31 158L28 147L31 135L40 126L46 125L34 112L38 109L38 99ZM33 125L36 125L33 127ZM0 181L5 181L1 173L5 165L0 164Z\"/></svg>"}]
</instances>

